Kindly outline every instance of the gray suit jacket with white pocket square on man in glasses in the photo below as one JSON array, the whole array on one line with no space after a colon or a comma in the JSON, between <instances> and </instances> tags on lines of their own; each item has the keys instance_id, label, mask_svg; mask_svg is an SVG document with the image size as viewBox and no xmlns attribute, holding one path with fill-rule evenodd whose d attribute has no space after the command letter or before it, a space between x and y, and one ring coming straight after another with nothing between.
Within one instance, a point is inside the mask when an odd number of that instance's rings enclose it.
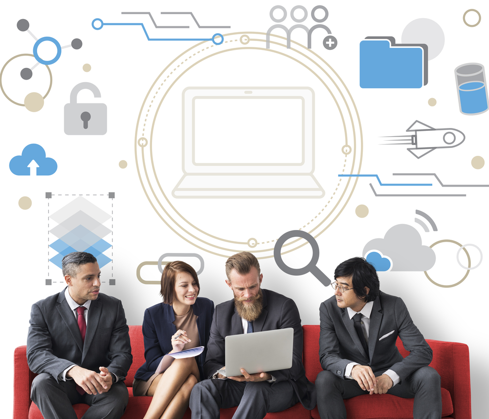
<instances>
[{"instance_id":1,"label":"gray suit jacket with white pocket square on man in glasses","mask_svg":"<svg viewBox=\"0 0 489 419\"><path fill-rule=\"evenodd\" d=\"M324 370L338 377L344 377L347 364L357 362L369 365L376 376L391 369L404 380L431 362L433 351L399 297L380 292L374 301L370 315L368 355L358 338L353 319L350 319L347 309L337 306L334 295L321 303L319 317L319 360ZM404 348L411 352L405 358L396 347L398 336Z\"/></svg>"}]
</instances>

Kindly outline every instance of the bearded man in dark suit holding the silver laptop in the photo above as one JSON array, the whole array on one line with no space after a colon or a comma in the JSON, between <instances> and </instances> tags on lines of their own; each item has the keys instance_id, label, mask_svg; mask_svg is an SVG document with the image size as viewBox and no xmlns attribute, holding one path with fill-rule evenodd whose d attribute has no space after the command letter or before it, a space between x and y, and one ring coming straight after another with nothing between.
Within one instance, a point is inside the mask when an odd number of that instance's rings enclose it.
<instances>
[{"instance_id":1,"label":"bearded man in dark suit holding the silver laptop","mask_svg":"<svg viewBox=\"0 0 489 419\"><path fill-rule=\"evenodd\" d=\"M302 364L302 327L294 301L284 295L262 290L263 274L256 257L241 252L226 261L226 284L234 299L216 306L212 320L204 375L192 389L193 419L219 419L219 409L238 406L233 418L264 418L300 401L312 410L316 405L314 385L306 378ZM294 329L292 367L285 370L223 377L225 337L276 329Z\"/></svg>"}]
</instances>

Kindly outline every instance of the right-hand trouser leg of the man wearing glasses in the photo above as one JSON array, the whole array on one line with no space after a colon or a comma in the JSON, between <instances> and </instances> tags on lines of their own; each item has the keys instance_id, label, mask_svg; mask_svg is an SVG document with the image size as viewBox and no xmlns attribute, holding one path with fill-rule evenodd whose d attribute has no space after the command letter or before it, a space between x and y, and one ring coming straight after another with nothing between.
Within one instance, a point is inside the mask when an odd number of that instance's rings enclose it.
<instances>
[{"instance_id":1,"label":"right-hand trouser leg of the man wearing glasses","mask_svg":"<svg viewBox=\"0 0 489 419\"><path fill-rule=\"evenodd\" d=\"M442 417L442 390L440 376L431 367L421 367L395 385L388 394L403 398L414 397L414 419L440 419Z\"/></svg>"}]
</instances>

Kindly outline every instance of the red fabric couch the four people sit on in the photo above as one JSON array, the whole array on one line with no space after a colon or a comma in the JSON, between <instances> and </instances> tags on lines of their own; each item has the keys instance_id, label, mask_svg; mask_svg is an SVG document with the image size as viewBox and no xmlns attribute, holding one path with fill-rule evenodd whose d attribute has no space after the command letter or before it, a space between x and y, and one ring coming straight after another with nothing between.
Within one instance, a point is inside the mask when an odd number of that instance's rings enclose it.
<instances>
[{"instance_id":1,"label":"red fabric couch the four people sit on","mask_svg":"<svg viewBox=\"0 0 489 419\"><path fill-rule=\"evenodd\" d=\"M304 330L304 367L311 382L316 380L321 371L319 364L319 326L306 325ZM129 404L123 419L140 419L144 416L151 398L133 397L133 378L136 370L144 362L144 344L141 326L129 326L133 365L126 378L129 390ZM471 419L470 406L470 366L468 346L463 343L427 340L433 349L431 366L442 377L443 418ZM402 356L408 352L398 339L398 348ZM14 419L42 419L41 412L31 402L30 387L36 376L27 366L26 347L19 346L14 352ZM318 395L321 397L321 395ZM345 400L348 419L398 419L412 418L413 400L398 398L391 395L364 395ZM87 411L88 405L75 404L78 418ZM222 409L221 418L231 419L236 408ZM184 419L190 419L191 412L187 409ZM309 411L300 403L283 412L269 413L267 419L319 419L317 407Z\"/></svg>"}]
</instances>

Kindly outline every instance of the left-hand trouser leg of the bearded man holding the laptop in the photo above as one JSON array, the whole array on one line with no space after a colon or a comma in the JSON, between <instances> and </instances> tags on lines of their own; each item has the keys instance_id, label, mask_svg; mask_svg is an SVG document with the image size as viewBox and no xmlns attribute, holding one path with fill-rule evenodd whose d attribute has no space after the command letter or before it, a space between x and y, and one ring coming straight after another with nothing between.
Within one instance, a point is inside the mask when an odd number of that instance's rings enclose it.
<instances>
[{"instance_id":1,"label":"left-hand trouser leg of the bearded man holding the laptop","mask_svg":"<svg viewBox=\"0 0 489 419\"><path fill-rule=\"evenodd\" d=\"M219 409L240 404L244 383L230 379L207 379L197 383L190 394L192 419L219 419Z\"/></svg>"}]
</instances>

